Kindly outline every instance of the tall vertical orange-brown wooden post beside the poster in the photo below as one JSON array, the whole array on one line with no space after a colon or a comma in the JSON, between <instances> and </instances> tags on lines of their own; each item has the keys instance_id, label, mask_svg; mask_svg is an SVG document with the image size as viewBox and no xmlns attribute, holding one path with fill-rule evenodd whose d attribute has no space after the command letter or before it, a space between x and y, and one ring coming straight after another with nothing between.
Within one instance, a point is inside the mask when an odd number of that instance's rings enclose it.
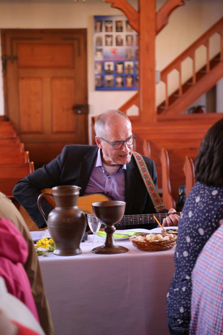
<instances>
[{"instance_id":1,"label":"tall vertical orange-brown wooden post beside the poster","mask_svg":"<svg viewBox=\"0 0 223 335\"><path fill-rule=\"evenodd\" d=\"M139 110L140 122L156 122L155 109L155 0L139 2Z\"/></svg>"}]
</instances>

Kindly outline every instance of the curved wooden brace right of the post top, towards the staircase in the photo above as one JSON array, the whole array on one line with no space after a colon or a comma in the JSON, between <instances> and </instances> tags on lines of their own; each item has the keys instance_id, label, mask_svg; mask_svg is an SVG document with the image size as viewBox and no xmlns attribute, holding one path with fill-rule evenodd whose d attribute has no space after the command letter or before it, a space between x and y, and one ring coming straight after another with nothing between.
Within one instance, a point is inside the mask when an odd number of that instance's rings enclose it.
<instances>
[{"instance_id":1,"label":"curved wooden brace right of the post top, towards the staircase","mask_svg":"<svg viewBox=\"0 0 223 335\"><path fill-rule=\"evenodd\" d=\"M168 23L169 16L179 6L183 6L183 0L168 0L156 13L156 35Z\"/></svg>"}]
</instances>

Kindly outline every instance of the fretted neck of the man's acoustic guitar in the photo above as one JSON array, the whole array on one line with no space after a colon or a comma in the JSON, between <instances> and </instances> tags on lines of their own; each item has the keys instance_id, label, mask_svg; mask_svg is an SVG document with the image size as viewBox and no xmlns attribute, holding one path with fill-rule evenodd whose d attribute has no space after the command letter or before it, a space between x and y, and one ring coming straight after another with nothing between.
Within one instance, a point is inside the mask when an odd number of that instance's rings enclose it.
<instances>
[{"instance_id":1,"label":"fretted neck of the man's acoustic guitar","mask_svg":"<svg viewBox=\"0 0 223 335\"><path fill-rule=\"evenodd\" d=\"M174 213L180 215L181 213ZM155 214L138 214L138 215L124 215L120 222L116 223L117 226L128 226L130 224L148 224L148 223L156 223L154 216L157 218L159 222L169 216L168 213L155 213Z\"/></svg>"}]
</instances>

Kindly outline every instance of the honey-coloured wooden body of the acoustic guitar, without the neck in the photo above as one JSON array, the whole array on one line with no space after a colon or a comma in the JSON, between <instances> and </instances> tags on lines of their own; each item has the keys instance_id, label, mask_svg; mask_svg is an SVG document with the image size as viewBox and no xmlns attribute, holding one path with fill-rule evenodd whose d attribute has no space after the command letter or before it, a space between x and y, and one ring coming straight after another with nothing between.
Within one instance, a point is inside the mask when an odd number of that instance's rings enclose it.
<instances>
[{"instance_id":1,"label":"honey-coloured wooden body of the acoustic guitar, without the neck","mask_svg":"<svg viewBox=\"0 0 223 335\"><path fill-rule=\"evenodd\" d=\"M48 192L52 193L52 189L46 188L41 190L41 193ZM44 198L48 201L48 203L55 207L55 202L53 201L52 198L44 196ZM78 207L87 215L93 213L92 210L92 204L93 202L98 202L98 201L108 201L110 200L108 197L106 197L103 194L91 194L91 195L85 195L83 197L78 198ZM19 212L22 215L24 221L26 222L29 231L36 231L36 230L45 230L47 227L39 229L35 222L31 219L29 214L26 212L25 208L20 206Z\"/></svg>"}]
</instances>

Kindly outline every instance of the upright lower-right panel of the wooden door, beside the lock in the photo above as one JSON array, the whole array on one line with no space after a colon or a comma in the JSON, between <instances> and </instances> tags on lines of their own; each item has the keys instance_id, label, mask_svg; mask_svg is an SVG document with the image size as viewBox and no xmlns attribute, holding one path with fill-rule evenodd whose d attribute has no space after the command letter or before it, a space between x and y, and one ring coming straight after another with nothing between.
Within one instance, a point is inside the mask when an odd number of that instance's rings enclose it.
<instances>
[{"instance_id":1,"label":"upright lower-right panel of the wooden door, beside the lock","mask_svg":"<svg viewBox=\"0 0 223 335\"><path fill-rule=\"evenodd\" d=\"M75 132L76 120L72 106L75 102L74 78L51 79L52 131Z\"/></svg>"}]
</instances>

